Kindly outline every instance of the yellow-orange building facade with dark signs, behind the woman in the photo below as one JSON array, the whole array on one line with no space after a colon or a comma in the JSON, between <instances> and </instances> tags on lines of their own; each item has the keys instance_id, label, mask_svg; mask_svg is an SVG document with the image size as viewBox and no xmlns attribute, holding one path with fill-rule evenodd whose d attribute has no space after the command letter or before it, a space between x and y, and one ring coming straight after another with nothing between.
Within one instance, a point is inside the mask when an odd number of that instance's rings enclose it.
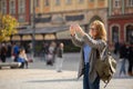
<instances>
[{"instance_id":1,"label":"yellow-orange building facade with dark signs, behind the woman","mask_svg":"<svg viewBox=\"0 0 133 89\"><path fill-rule=\"evenodd\" d=\"M33 4L33 2L31 3ZM106 18L106 0L35 0L35 27L65 29L63 32L55 33L57 39L70 39L69 28L65 27L71 23L79 23L88 31L89 24L98 19L103 21L108 29Z\"/></svg>"}]
</instances>

